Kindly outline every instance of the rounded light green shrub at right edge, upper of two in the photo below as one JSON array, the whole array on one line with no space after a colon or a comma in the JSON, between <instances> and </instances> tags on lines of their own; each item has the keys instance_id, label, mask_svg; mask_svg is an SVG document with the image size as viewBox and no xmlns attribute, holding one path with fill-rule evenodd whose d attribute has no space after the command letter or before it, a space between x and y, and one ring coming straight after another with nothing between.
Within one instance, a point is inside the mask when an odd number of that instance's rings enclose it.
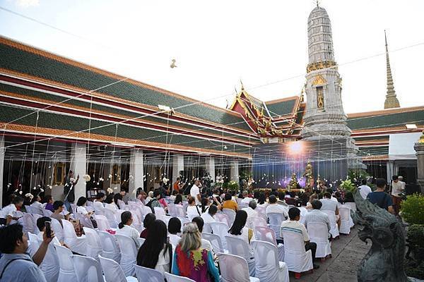
<instances>
[{"instance_id":1,"label":"rounded light green shrub at right edge, upper of two","mask_svg":"<svg viewBox=\"0 0 424 282\"><path fill-rule=\"evenodd\" d=\"M401 216L409 224L424 224L424 196L409 195L401 202Z\"/></svg>"}]
</instances>

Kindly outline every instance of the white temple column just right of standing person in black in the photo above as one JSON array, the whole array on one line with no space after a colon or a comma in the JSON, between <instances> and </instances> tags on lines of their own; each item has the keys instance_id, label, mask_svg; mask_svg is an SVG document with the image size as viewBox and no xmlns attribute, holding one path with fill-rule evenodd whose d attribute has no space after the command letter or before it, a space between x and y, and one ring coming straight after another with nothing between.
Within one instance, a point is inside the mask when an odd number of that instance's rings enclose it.
<instances>
[{"instance_id":1,"label":"white temple column just right of standing person in black","mask_svg":"<svg viewBox=\"0 0 424 282\"><path fill-rule=\"evenodd\" d=\"M71 148L71 155L73 156L71 164L73 175L74 177L80 176L78 183L74 186L76 203L79 197L87 197L86 181L83 180L83 176L86 175L87 171L87 145L81 143L73 144Z\"/></svg>"}]
</instances>

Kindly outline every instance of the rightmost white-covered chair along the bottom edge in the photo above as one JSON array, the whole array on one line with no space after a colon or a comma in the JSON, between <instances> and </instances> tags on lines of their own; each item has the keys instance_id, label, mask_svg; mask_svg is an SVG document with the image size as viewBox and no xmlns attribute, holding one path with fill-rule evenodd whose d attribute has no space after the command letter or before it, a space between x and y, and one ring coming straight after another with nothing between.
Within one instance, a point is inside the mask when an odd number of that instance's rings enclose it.
<instances>
[{"instance_id":1,"label":"rightmost white-covered chair along the bottom edge","mask_svg":"<svg viewBox=\"0 0 424 282\"><path fill-rule=\"evenodd\" d=\"M252 240L256 277L260 281L289 282L285 262L278 261L277 247L269 242Z\"/></svg>"}]
</instances>

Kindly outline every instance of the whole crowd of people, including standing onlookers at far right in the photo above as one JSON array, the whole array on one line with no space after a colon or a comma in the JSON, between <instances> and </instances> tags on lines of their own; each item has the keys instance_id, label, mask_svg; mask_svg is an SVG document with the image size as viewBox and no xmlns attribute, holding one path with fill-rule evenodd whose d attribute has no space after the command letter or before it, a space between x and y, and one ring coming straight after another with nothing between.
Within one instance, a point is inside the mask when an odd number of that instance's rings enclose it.
<instances>
[{"instance_id":1,"label":"whole crowd of people, including standing onlookers at far right","mask_svg":"<svg viewBox=\"0 0 424 282\"><path fill-rule=\"evenodd\" d=\"M71 180L69 180L71 181ZM73 180L77 181L77 180ZM74 182L75 183L75 182ZM387 183L382 178L375 180L376 189L367 185L363 180L358 189L360 195L377 204L388 212L399 212L399 194L404 192L404 184L399 177L394 176L391 183L391 196L386 192ZM187 193L188 192L188 193ZM219 281L217 254L213 251L211 242L202 238L201 233L212 233L209 223L218 221L217 213L225 209L234 211L235 218L228 226L228 235L244 240L248 245L256 240L254 228L255 220L259 216L259 209L264 209L266 217L270 214L281 214L281 226L277 236L277 243L284 243L285 231L295 231L302 234L305 243L305 251L311 250L312 260L316 262L315 252L317 244L311 242L307 232L308 224L324 223L328 229L328 240L332 238L331 220L325 211L334 212L335 221L340 226L338 212L339 204L355 202L352 192L333 190L326 188L319 192L282 192L277 190L223 190L223 188L208 188L202 186L201 180L195 180L192 187L184 193L182 186L177 182L171 188L163 185L148 192L139 190L137 200L151 208L151 212L143 216L143 230L140 232L134 228L133 214L129 211L121 213L116 234L125 235L134 240L136 249L136 264L161 273L172 274L192 278L194 281ZM65 201L54 200L51 195L45 195L43 199L35 197L30 207L34 210L46 209L49 216L37 219L39 238L42 244L37 250L31 250L28 255L28 238L23 233L23 227L19 223L20 216L16 212L24 211L24 199L18 195L11 197L10 204L0 210L0 280L16 281L14 277L22 277L22 281L45 281L44 274L40 271L40 264L47 252L50 243L67 247L64 242L59 242L54 233L48 237L45 232L47 221L57 219L75 219L71 213L78 216L86 216L96 227L93 217L93 209L86 208L88 199L79 197L76 207L73 204L71 193ZM116 212L119 201L125 200L126 191L105 195L98 192L93 201L93 208L110 209ZM68 204L69 209L68 209ZM186 207L189 222L182 223L178 217L172 217L166 224L155 215L155 207L163 208L166 212L169 204ZM307 214L301 218L301 209L306 209ZM76 235L81 236L83 229L74 225ZM206 229L207 228L207 229ZM138 238L145 239L141 244ZM250 248L251 256L254 257L253 249ZM314 269L319 267L313 264ZM2 280L4 279L4 280Z\"/></svg>"}]
</instances>

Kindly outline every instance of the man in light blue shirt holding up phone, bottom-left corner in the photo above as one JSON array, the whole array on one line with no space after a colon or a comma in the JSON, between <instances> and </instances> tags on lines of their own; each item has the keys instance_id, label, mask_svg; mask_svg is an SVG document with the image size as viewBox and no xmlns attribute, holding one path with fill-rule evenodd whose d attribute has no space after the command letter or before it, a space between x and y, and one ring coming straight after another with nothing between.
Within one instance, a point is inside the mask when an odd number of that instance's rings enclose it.
<instances>
[{"instance_id":1,"label":"man in light blue shirt holding up phone, bottom-left corner","mask_svg":"<svg viewBox=\"0 0 424 282\"><path fill-rule=\"evenodd\" d=\"M47 247L52 242L44 233L42 243L31 258L28 255L28 238L18 223L0 228L0 281L45 282L46 278L38 267L44 259Z\"/></svg>"}]
</instances>

